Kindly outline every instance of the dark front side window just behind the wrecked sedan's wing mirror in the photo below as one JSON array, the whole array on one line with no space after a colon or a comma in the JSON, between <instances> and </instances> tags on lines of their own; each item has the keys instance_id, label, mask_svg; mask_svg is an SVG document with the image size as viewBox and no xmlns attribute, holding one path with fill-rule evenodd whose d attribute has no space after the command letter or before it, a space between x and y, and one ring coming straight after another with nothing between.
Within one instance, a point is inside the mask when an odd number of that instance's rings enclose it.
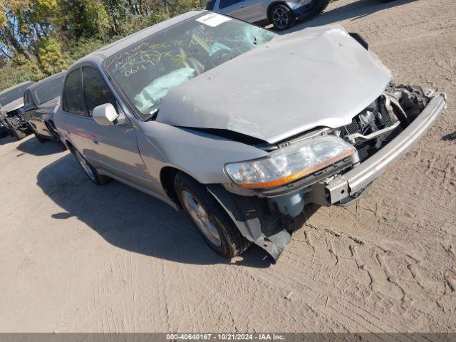
<instances>
[{"instance_id":1,"label":"dark front side window just behind the wrecked sedan's wing mirror","mask_svg":"<svg viewBox=\"0 0 456 342\"><path fill-rule=\"evenodd\" d=\"M83 90L89 115L92 115L93 108L105 103L112 104L117 110L115 96L97 68L93 66L83 67Z\"/></svg>"}]
</instances>

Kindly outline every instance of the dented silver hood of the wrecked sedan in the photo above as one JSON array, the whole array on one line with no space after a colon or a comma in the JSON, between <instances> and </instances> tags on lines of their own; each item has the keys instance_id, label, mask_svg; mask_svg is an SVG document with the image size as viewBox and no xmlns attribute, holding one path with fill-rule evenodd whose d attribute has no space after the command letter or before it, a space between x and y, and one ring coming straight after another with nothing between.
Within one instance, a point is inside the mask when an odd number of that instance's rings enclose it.
<instances>
[{"instance_id":1,"label":"dented silver hood of the wrecked sedan","mask_svg":"<svg viewBox=\"0 0 456 342\"><path fill-rule=\"evenodd\" d=\"M318 126L350 123L392 77L343 27L306 28L173 88L157 121L274 143Z\"/></svg>"}]
</instances>

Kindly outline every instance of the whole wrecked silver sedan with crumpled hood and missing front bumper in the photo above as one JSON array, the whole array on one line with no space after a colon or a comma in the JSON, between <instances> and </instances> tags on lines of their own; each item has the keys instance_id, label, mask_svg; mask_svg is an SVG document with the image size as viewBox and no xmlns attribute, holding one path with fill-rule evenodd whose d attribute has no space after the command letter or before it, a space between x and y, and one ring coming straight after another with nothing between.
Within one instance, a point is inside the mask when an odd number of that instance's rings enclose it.
<instances>
[{"instance_id":1,"label":"whole wrecked silver sedan with crumpled hood and missing front bumper","mask_svg":"<svg viewBox=\"0 0 456 342\"><path fill-rule=\"evenodd\" d=\"M288 218L356 201L445 108L392 80L341 26L278 36L193 11L77 61L54 120L96 185L185 210L225 257L254 243L276 259Z\"/></svg>"}]
</instances>

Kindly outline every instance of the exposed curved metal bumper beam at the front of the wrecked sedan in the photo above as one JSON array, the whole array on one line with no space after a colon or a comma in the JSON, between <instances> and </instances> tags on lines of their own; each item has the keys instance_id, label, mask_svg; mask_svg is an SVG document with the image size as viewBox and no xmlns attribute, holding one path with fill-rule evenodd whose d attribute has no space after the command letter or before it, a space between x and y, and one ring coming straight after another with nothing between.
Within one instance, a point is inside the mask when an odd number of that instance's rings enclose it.
<instances>
[{"instance_id":1,"label":"exposed curved metal bumper beam at the front of the wrecked sedan","mask_svg":"<svg viewBox=\"0 0 456 342\"><path fill-rule=\"evenodd\" d=\"M405 155L427 132L442 110L446 108L446 104L445 94L435 95L418 118L375 155L343 175L328 182L320 182L317 187L320 190L324 187L326 202L334 204L349 195L355 195L379 177L386 167Z\"/></svg>"}]
</instances>

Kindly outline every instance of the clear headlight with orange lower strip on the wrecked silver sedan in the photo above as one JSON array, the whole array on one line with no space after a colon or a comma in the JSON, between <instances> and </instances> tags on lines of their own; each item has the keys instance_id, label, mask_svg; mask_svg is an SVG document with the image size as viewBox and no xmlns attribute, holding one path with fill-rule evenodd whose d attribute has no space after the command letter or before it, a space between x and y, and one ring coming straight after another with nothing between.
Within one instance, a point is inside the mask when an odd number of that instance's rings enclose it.
<instances>
[{"instance_id":1,"label":"clear headlight with orange lower strip on the wrecked silver sedan","mask_svg":"<svg viewBox=\"0 0 456 342\"><path fill-rule=\"evenodd\" d=\"M340 138L326 135L296 142L261 159L227 164L225 170L241 187L277 187L311 175L355 151Z\"/></svg>"}]
</instances>

